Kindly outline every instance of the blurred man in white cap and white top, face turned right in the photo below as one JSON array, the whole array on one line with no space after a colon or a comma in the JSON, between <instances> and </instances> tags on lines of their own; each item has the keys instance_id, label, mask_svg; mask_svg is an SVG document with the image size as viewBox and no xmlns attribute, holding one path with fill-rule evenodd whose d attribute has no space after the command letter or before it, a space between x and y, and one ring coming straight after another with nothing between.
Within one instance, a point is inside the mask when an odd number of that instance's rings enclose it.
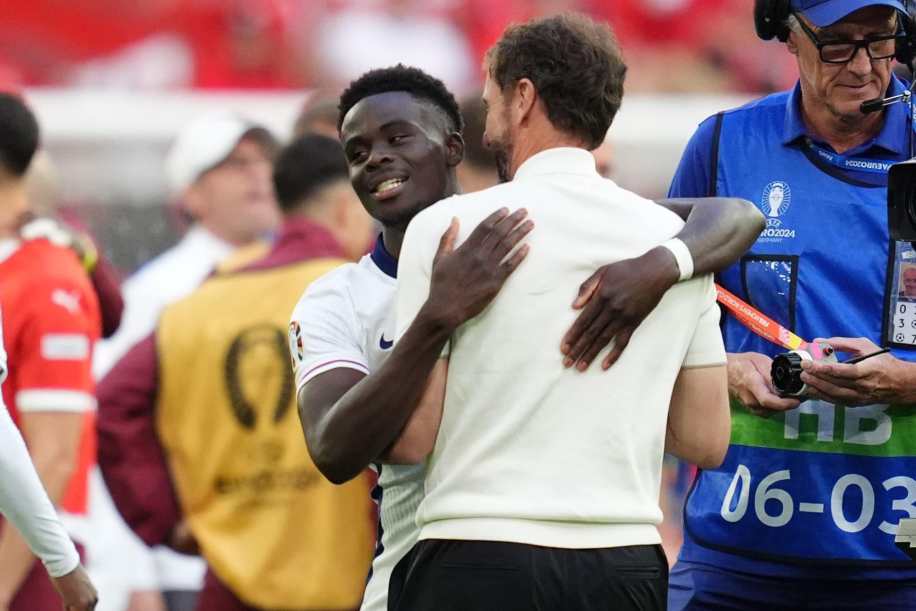
<instances>
[{"instance_id":1,"label":"blurred man in white cap and white top, face turned right","mask_svg":"<svg viewBox=\"0 0 916 611\"><path fill-rule=\"evenodd\" d=\"M166 159L169 190L194 223L177 245L125 280L121 326L96 349L97 379L153 331L166 306L189 295L220 261L277 228L270 179L276 150L265 127L227 112L201 115L180 130ZM163 546L154 553L169 611L193 608L204 562Z\"/></svg>"}]
</instances>

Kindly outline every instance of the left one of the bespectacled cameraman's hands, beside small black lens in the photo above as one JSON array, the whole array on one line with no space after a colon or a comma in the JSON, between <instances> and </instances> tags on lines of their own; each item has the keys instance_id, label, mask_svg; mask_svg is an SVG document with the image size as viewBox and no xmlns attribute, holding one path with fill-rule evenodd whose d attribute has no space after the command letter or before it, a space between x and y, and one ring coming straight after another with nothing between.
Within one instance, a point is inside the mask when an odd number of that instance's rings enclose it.
<instances>
[{"instance_id":1,"label":"left one of the bespectacled cameraman's hands, beside small black lens","mask_svg":"<svg viewBox=\"0 0 916 611\"><path fill-rule=\"evenodd\" d=\"M772 366L773 359L756 352L728 355L728 394L761 418L771 418L802 404L797 398L782 398L776 392L769 377Z\"/></svg>"}]
</instances>

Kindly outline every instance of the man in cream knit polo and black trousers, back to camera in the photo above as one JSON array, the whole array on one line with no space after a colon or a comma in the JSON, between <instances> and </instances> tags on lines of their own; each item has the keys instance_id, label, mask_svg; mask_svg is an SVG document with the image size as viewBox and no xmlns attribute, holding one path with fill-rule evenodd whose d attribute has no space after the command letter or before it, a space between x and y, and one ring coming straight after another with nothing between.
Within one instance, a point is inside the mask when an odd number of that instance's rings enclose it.
<instances>
[{"instance_id":1,"label":"man in cream knit polo and black trousers, back to camera","mask_svg":"<svg viewBox=\"0 0 916 611\"><path fill-rule=\"evenodd\" d=\"M605 25L567 15L511 26L486 69L485 139L511 181L439 202L410 223L398 337L428 299L443 299L430 284L450 224L460 243L505 205L525 207L535 227L493 303L455 329L414 414L442 420L438 435L428 427L420 541L389 608L663 609L662 455L714 466L728 442L713 280L689 279L689 253L671 242L677 216L594 169L589 150L619 108L626 72ZM583 281L663 244L685 281L610 370L564 367L559 348Z\"/></svg>"}]
</instances>

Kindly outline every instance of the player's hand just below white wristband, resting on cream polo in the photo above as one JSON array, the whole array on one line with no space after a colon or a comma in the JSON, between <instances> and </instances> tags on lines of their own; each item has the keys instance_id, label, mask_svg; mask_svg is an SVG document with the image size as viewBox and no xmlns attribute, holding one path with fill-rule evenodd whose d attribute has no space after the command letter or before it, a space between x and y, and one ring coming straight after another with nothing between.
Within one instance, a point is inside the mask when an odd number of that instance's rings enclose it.
<instances>
[{"instance_id":1,"label":"player's hand just below white wristband, resting on cream polo","mask_svg":"<svg viewBox=\"0 0 916 611\"><path fill-rule=\"evenodd\" d=\"M563 365L585 371L613 341L614 347L601 364L609 369L639 323L655 310L678 278L677 260L661 246L643 256L600 267L579 287L579 296L573 301L573 308L584 310L563 338Z\"/></svg>"}]
</instances>

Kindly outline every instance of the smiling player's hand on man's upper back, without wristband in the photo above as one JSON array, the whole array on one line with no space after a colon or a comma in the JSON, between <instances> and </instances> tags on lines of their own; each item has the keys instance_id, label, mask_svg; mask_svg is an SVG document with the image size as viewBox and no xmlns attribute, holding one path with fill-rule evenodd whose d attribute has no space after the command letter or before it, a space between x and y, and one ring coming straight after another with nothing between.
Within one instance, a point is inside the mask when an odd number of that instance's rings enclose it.
<instances>
[{"instance_id":1,"label":"smiling player's hand on man's upper back, without wristband","mask_svg":"<svg viewBox=\"0 0 916 611\"><path fill-rule=\"evenodd\" d=\"M455 329L490 304L528 256L527 244L512 252L534 228L526 216L524 208L511 214L500 208L478 224L458 248L454 247L458 219L452 219L432 262L430 297L424 306L431 316Z\"/></svg>"}]
</instances>

